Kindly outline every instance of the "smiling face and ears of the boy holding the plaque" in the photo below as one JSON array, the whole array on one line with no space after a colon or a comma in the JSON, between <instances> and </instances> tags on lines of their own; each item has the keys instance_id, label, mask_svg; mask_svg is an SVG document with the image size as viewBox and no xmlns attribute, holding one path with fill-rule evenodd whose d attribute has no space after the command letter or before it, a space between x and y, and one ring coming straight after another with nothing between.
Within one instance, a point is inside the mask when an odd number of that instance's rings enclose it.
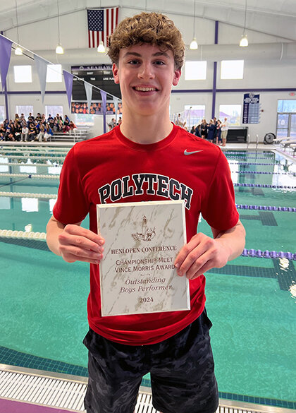
<instances>
[{"instance_id":1,"label":"smiling face and ears of the boy holding the plaque","mask_svg":"<svg viewBox=\"0 0 296 413\"><path fill-rule=\"evenodd\" d=\"M181 71L175 69L171 50L152 44L121 49L113 64L115 83L121 86L124 112L149 116L164 114L169 107L171 87L178 85Z\"/></svg>"}]
</instances>

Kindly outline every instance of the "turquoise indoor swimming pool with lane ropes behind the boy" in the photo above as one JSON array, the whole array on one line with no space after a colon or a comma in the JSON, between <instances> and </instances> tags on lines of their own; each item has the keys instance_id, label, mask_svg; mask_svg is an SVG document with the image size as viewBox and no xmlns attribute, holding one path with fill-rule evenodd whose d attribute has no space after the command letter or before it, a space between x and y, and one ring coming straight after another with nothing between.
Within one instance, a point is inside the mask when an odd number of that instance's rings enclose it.
<instances>
[{"instance_id":1,"label":"turquoise indoor swimming pool with lane ropes behind the boy","mask_svg":"<svg viewBox=\"0 0 296 413\"><path fill-rule=\"evenodd\" d=\"M45 232L68 149L0 148L0 229ZM268 150L225 154L247 241L206 273L219 395L296 409L296 164ZM202 217L199 231L210 234ZM0 254L0 363L87 376L88 265L38 237L0 235Z\"/></svg>"}]
</instances>

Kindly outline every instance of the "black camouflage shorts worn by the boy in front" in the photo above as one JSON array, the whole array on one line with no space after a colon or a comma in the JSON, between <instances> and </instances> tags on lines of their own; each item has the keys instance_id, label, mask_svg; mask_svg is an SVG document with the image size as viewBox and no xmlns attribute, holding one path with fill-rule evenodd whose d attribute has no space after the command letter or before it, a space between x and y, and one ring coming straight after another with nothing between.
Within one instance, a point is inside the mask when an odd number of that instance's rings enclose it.
<instances>
[{"instance_id":1,"label":"black camouflage shorts worn by the boy in front","mask_svg":"<svg viewBox=\"0 0 296 413\"><path fill-rule=\"evenodd\" d=\"M180 333L154 345L122 345L90 329L83 340L89 350L87 413L133 413L142 377L149 372L152 404L159 412L216 412L210 328L204 309Z\"/></svg>"}]
</instances>

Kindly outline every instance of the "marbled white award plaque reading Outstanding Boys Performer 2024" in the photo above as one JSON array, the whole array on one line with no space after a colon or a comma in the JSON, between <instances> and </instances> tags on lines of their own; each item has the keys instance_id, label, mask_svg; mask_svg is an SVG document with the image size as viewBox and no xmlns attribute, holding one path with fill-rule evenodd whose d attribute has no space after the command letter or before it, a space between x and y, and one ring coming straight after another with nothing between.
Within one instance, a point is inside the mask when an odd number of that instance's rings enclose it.
<instances>
[{"instance_id":1,"label":"marbled white award plaque reading Outstanding Boys Performer 2024","mask_svg":"<svg viewBox=\"0 0 296 413\"><path fill-rule=\"evenodd\" d=\"M190 309L189 282L173 265L186 243L183 200L97 205L97 222L102 316Z\"/></svg>"}]
</instances>

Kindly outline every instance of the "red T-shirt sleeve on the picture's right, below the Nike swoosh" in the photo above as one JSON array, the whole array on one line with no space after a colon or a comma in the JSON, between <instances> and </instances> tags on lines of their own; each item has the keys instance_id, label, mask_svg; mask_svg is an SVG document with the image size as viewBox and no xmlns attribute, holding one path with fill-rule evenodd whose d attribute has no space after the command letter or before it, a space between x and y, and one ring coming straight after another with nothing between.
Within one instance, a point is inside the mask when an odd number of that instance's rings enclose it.
<instances>
[{"instance_id":1,"label":"red T-shirt sleeve on the picture's right, below the Nike swoosh","mask_svg":"<svg viewBox=\"0 0 296 413\"><path fill-rule=\"evenodd\" d=\"M202 203L202 216L211 227L221 231L226 231L238 223L239 214L235 206L233 181L228 161L222 151L209 191Z\"/></svg>"}]
</instances>

